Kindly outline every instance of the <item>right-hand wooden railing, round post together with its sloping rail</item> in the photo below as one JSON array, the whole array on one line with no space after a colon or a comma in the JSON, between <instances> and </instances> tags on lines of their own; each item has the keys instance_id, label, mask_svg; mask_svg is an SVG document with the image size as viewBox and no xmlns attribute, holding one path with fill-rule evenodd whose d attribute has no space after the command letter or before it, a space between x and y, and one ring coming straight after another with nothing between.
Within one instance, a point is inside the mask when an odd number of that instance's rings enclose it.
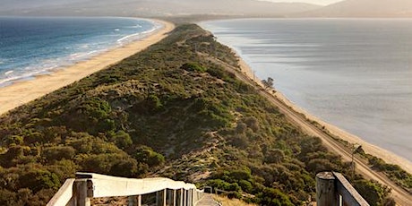
<instances>
[{"instance_id":1,"label":"right-hand wooden railing, round post together with its sloping rail","mask_svg":"<svg viewBox=\"0 0 412 206\"><path fill-rule=\"evenodd\" d=\"M337 172L316 175L316 203L318 206L369 206L345 176Z\"/></svg>"}]
</instances>

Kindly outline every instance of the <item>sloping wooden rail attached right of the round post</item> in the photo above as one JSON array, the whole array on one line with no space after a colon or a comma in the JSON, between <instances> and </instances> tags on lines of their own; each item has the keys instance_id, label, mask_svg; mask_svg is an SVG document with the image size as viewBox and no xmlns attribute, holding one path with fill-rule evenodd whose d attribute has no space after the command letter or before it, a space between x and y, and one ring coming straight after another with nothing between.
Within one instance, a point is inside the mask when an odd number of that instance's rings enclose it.
<instances>
[{"instance_id":1,"label":"sloping wooden rail attached right of the round post","mask_svg":"<svg viewBox=\"0 0 412 206\"><path fill-rule=\"evenodd\" d=\"M337 179L337 192L342 196L343 202L346 205L369 206L369 203L357 193L356 189L350 185L345 176L342 176L342 174L337 172L333 172L333 176Z\"/></svg>"}]
</instances>

